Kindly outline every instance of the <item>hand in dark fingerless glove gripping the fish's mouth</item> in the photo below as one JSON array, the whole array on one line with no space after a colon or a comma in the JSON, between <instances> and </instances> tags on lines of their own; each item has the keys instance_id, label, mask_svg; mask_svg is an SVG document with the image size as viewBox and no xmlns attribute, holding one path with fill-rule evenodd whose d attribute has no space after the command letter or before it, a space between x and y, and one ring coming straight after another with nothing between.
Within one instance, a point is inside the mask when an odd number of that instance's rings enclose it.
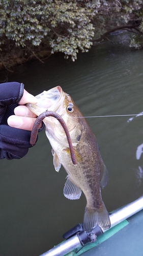
<instances>
[{"instance_id":1,"label":"hand in dark fingerless glove gripping the fish's mouth","mask_svg":"<svg viewBox=\"0 0 143 256\"><path fill-rule=\"evenodd\" d=\"M37 99L24 90L23 83L0 84L0 159L20 159L32 147L30 131L36 115L23 105L28 102Z\"/></svg>"}]
</instances>

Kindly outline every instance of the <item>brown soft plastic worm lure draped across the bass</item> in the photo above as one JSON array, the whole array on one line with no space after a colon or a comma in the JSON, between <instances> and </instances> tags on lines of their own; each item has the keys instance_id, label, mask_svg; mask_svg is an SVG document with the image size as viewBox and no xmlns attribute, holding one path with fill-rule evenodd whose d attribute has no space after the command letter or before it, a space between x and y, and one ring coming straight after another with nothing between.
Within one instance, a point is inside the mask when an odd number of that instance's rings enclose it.
<instances>
[{"instance_id":1,"label":"brown soft plastic worm lure draped across the bass","mask_svg":"<svg viewBox=\"0 0 143 256\"><path fill-rule=\"evenodd\" d=\"M73 164L76 164L76 157L75 157L75 153L74 153L74 149L73 149L73 145L72 145L72 141L71 141L71 137L70 137L70 134L69 134L68 127L67 127L64 119L59 114L57 114L56 112L46 111L46 112L43 112L42 114L40 114L37 117L37 119L34 123L33 129L32 129L32 132L31 132L30 144L31 145L35 144L40 123L43 121L43 119L45 117L48 117L48 116L52 116L52 117L56 118L61 123L61 125L63 126L63 129L65 131L65 134L67 136L67 140L68 140L68 143L69 143L72 162L73 162Z\"/></svg>"}]
</instances>

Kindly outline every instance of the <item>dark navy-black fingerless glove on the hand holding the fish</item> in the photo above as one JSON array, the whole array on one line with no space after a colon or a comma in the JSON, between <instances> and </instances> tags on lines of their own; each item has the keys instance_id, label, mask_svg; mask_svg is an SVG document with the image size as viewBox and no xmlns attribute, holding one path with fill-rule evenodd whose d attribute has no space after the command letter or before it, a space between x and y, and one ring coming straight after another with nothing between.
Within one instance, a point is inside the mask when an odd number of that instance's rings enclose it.
<instances>
[{"instance_id":1,"label":"dark navy-black fingerless glove on the hand holding the fish","mask_svg":"<svg viewBox=\"0 0 143 256\"><path fill-rule=\"evenodd\" d=\"M11 127L9 116L23 96L24 84L7 82L0 84L0 159L20 159L26 155L30 144L31 132Z\"/></svg>"}]
</instances>

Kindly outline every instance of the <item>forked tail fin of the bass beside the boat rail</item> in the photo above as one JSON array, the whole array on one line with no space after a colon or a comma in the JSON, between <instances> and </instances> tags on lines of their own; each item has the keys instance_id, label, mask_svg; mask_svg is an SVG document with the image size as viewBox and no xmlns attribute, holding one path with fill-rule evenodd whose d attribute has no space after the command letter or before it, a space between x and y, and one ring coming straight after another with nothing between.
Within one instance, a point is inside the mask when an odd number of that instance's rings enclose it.
<instances>
[{"instance_id":1,"label":"forked tail fin of the bass beside the boat rail","mask_svg":"<svg viewBox=\"0 0 143 256\"><path fill-rule=\"evenodd\" d=\"M96 210L88 209L87 206L85 207L83 218L84 230L91 231L91 229L97 225L104 229L109 228L111 225L107 209L103 202L100 208Z\"/></svg>"}]
</instances>

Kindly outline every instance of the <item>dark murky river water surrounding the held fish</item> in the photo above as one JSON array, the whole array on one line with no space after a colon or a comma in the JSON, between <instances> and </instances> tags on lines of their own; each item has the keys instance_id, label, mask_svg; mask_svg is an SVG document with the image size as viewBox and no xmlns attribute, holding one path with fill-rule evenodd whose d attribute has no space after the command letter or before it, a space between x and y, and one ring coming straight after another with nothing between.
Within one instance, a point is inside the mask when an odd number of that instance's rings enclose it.
<instances>
[{"instance_id":1,"label":"dark murky river water surrounding the held fish","mask_svg":"<svg viewBox=\"0 0 143 256\"><path fill-rule=\"evenodd\" d=\"M142 51L107 42L79 54L75 63L54 55L45 64L33 61L16 67L14 73L1 72L0 80L23 82L34 95L60 85L84 116L138 114L143 111L142 58ZM102 190L108 211L143 193L143 155L136 159L143 143L142 118L88 118L109 172ZM85 198L64 197L66 172L55 172L44 131L24 158L1 160L0 176L0 255L38 256L82 222Z\"/></svg>"}]
</instances>

